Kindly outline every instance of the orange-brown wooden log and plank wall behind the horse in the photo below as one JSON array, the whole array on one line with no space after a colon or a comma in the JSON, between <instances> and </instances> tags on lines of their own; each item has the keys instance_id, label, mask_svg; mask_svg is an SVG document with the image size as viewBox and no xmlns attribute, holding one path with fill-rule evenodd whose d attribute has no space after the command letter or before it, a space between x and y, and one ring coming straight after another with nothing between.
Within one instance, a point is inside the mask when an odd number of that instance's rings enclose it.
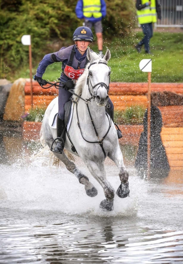
<instances>
[{"instance_id":1,"label":"orange-brown wooden log and plank wall behind the horse","mask_svg":"<svg viewBox=\"0 0 183 264\"><path fill-rule=\"evenodd\" d=\"M25 111L31 109L30 82L25 84ZM146 93L147 83L110 83L110 98L115 110L124 110L132 105L142 105L147 107ZM151 91L171 91L183 95L182 83L151 83ZM58 96L58 89L43 89L33 81L33 105L35 107L46 108L49 103ZM174 170L183 168L183 106L159 107L162 113L164 127L161 137L166 149L169 164ZM182 126L182 127L176 127ZM120 126L123 138L122 144L132 144L138 146L140 133L143 126Z\"/></svg>"}]
</instances>

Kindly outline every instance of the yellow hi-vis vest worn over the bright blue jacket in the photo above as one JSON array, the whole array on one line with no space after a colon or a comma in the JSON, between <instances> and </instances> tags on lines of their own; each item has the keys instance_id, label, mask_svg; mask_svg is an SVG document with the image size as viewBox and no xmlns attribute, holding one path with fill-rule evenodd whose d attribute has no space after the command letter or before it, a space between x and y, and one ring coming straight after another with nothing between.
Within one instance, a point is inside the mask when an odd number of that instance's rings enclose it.
<instances>
[{"instance_id":1,"label":"yellow hi-vis vest worn over the bright blue jacket","mask_svg":"<svg viewBox=\"0 0 183 264\"><path fill-rule=\"evenodd\" d=\"M83 15L86 18L102 17L101 11L101 1L100 0L83 0Z\"/></svg>"}]
</instances>

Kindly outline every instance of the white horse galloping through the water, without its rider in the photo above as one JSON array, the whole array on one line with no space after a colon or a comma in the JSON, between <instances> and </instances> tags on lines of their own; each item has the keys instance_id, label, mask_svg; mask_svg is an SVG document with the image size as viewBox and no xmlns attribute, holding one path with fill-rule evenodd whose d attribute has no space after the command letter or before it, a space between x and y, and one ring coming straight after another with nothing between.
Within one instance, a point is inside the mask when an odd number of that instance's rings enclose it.
<instances>
[{"instance_id":1,"label":"white horse galloping through the water, without its rider","mask_svg":"<svg viewBox=\"0 0 183 264\"><path fill-rule=\"evenodd\" d=\"M88 49L87 58L90 63L86 65L74 90L80 98L72 96L75 103L73 103L73 115L68 133L76 152L71 149L72 144L68 135L66 135L65 149L84 161L90 173L104 189L106 199L101 201L100 207L111 211L113 210L114 189L106 179L104 159L108 156L118 167L121 184L117 195L121 198L129 196L129 175L123 163L115 125L105 111L109 98L110 68L107 66L107 61L110 59L110 51L107 49L105 56L102 57ZM54 104L55 99L46 109L42 124L42 135L49 148L54 138L57 137L56 129L49 126L49 115ZM75 174L79 182L85 185L88 196L97 195L96 188L89 182L87 176L68 159L64 151L62 154L53 153L70 172Z\"/></svg>"}]
</instances>

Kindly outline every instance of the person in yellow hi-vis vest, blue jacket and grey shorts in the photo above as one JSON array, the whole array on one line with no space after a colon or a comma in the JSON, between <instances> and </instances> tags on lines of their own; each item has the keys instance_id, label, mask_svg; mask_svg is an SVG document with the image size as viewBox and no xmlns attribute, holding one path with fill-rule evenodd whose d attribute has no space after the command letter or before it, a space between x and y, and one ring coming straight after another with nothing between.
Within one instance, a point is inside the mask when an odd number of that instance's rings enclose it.
<instances>
[{"instance_id":1,"label":"person in yellow hi-vis vest, blue jacket and grey shorts","mask_svg":"<svg viewBox=\"0 0 183 264\"><path fill-rule=\"evenodd\" d=\"M76 16L84 19L84 26L92 29L94 26L98 53L102 54L103 48L103 27L102 18L106 16L106 3L104 0L78 0L76 4Z\"/></svg>"}]
</instances>

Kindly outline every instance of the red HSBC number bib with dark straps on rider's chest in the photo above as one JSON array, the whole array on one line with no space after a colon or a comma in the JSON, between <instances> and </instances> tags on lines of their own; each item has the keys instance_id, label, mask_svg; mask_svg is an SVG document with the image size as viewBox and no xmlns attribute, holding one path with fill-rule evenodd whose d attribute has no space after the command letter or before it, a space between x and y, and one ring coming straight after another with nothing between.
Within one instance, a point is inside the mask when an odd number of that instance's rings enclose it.
<instances>
[{"instance_id":1,"label":"red HSBC number bib with dark straps on rider's chest","mask_svg":"<svg viewBox=\"0 0 183 264\"><path fill-rule=\"evenodd\" d=\"M71 51L71 56L68 60L68 63L66 65L62 64L62 71L63 73L70 79L73 80L77 80L85 71L85 68L80 69L80 63L78 64L78 68L75 69L72 67L72 63L73 63L73 58L75 56L75 49L73 47L72 51ZM85 62L85 66L88 63L88 59L86 57L86 62Z\"/></svg>"}]
</instances>

